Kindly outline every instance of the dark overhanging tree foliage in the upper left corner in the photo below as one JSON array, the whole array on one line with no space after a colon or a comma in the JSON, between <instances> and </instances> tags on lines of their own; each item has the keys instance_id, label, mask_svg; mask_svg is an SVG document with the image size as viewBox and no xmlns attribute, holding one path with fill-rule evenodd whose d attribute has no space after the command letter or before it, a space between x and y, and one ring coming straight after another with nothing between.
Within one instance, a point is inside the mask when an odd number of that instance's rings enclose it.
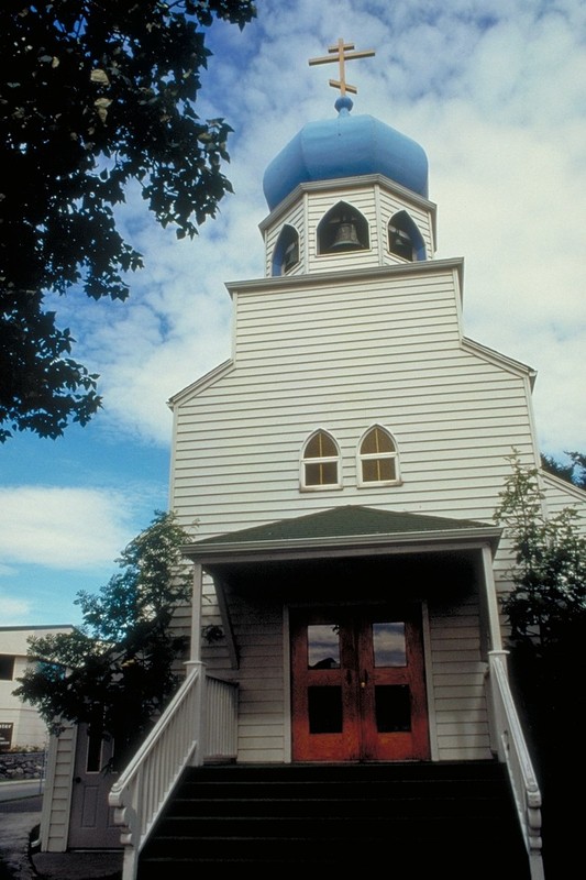
<instances>
[{"instance_id":1,"label":"dark overhanging tree foliage in the upper left corner","mask_svg":"<svg viewBox=\"0 0 586 880\"><path fill-rule=\"evenodd\" d=\"M137 182L156 220L192 238L231 185L231 128L194 105L213 19L252 0L4 0L0 29L0 441L60 436L99 409L98 376L46 309L76 285L125 299L142 257L115 224Z\"/></svg>"}]
</instances>

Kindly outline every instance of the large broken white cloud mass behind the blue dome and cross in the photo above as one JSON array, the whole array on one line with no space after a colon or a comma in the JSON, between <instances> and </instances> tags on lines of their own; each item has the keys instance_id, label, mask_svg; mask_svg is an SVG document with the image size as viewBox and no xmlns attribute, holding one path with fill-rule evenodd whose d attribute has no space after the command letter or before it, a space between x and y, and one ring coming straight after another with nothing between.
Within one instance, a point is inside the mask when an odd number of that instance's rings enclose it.
<instances>
[{"instance_id":1,"label":"large broken white cloud mass behind the blue dome and cross","mask_svg":"<svg viewBox=\"0 0 586 880\"><path fill-rule=\"evenodd\" d=\"M224 282L264 272L264 169L302 124L334 113L328 79L338 69L308 59L344 36L377 53L347 66L354 112L428 153L438 256L465 258L465 332L538 370L548 451L586 447L576 406L586 346L585 24L579 0L265 0L242 33L214 24L198 109L235 129L225 168L235 195L194 242L177 242L145 218L136 195L129 199L123 216L146 263L131 299L81 314L71 301L66 312L81 360L102 377L100 418L166 444L167 398L230 356Z\"/></svg>"}]
</instances>

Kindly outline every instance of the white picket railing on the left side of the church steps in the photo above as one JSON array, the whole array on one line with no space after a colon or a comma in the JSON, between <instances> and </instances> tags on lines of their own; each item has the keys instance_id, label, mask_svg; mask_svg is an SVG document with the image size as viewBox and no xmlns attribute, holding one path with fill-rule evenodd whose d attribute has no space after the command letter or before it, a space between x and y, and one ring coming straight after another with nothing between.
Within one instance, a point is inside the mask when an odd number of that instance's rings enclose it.
<instances>
[{"instance_id":1,"label":"white picket railing on the left side of the church steps","mask_svg":"<svg viewBox=\"0 0 586 880\"><path fill-rule=\"evenodd\" d=\"M135 880L139 854L186 767L235 757L237 685L190 663L186 680L109 795L124 846L122 880Z\"/></svg>"}]
</instances>

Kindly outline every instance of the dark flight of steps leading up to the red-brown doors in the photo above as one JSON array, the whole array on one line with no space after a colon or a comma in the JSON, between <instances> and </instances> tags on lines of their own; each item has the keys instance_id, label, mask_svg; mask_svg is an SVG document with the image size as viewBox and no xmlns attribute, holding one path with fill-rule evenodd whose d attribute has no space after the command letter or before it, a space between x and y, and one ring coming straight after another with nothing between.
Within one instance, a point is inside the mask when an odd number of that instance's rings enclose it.
<instances>
[{"instance_id":1,"label":"dark flight of steps leading up to the red-brown doors","mask_svg":"<svg viewBox=\"0 0 586 880\"><path fill-rule=\"evenodd\" d=\"M219 862L347 867L349 843L355 865L391 845L440 873L457 864L458 877L466 857L482 853L496 870L506 853L516 880L529 878L504 768L489 761L191 768L141 854L139 880Z\"/></svg>"}]
</instances>

